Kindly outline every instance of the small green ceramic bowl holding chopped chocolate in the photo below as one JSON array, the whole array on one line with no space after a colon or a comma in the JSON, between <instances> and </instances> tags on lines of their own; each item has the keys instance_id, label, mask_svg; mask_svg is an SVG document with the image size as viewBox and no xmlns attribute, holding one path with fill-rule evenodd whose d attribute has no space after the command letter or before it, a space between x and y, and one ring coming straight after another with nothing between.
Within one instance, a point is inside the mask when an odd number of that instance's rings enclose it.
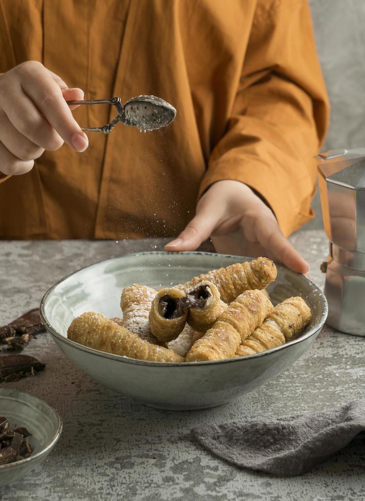
<instances>
[{"instance_id":1,"label":"small green ceramic bowl holding chopped chocolate","mask_svg":"<svg viewBox=\"0 0 365 501\"><path fill-rule=\"evenodd\" d=\"M62 432L62 421L48 403L30 393L0 388L0 414L10 427L25 426L32 434L27 438L33 446L29 458L0 466L0 486L13 483L41 463L56 445Z\"/></svg>"}]
</instances>

